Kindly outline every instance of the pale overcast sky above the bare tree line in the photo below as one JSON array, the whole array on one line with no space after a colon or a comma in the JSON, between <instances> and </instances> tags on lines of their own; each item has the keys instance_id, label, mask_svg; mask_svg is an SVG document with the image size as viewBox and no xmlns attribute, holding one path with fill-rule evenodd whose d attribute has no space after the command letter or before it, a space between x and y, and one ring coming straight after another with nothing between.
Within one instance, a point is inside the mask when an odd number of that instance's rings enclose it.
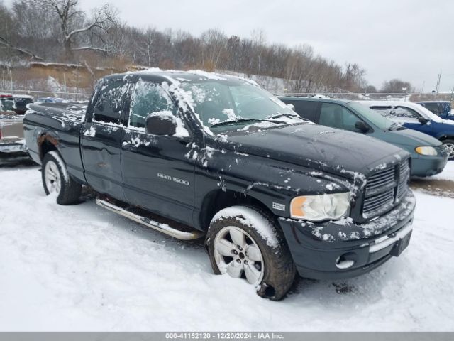
<instances>
[{"instance_id":1,"label":"pale overcast sky above the bare tree line","mask_svg":"<svg viewBox=\"0 0 454 341\"><path fill-rule=\"evenodd\" d=\"M11 0L10 0L11 1ZM109 0L80 0L84 9ZM9 2L9 1L6 1ZM452 0L111 0L123 21L138 27L182 29L198 36L219 28L250 37L255 29L268 43L311 44L316 53L358 63L370 84L397 77L424 90L454 87Z\"/></svg>"}]
</instances>

